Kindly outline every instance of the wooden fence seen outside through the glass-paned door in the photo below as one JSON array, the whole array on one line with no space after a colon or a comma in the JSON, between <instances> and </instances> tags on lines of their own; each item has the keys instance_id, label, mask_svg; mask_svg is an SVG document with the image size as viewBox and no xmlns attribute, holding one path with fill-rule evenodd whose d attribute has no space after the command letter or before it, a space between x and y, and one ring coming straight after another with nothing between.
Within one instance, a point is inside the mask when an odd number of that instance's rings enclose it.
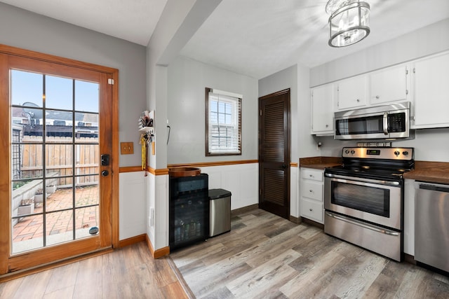
<instances>
[{"instance_id":1,"label":"wooden fence seen outside through the glass-paned door","mask_svg":"<svg viewBox=\"0 0 449 299\"><path fill-rule=\"evenodd\" d=\"M43 159L42 137L24 136L22 138L24 144L20 149L22 179L42 176L45 160L47 173L67 176L58 179L58 186L72 186L73 172L76 175L76 185L98 183L98 175L88 175L99 173L98 138L76 138L76 144L71 142L71 137L46 137L45 159Z\"/></svg>"}]
</instances>

